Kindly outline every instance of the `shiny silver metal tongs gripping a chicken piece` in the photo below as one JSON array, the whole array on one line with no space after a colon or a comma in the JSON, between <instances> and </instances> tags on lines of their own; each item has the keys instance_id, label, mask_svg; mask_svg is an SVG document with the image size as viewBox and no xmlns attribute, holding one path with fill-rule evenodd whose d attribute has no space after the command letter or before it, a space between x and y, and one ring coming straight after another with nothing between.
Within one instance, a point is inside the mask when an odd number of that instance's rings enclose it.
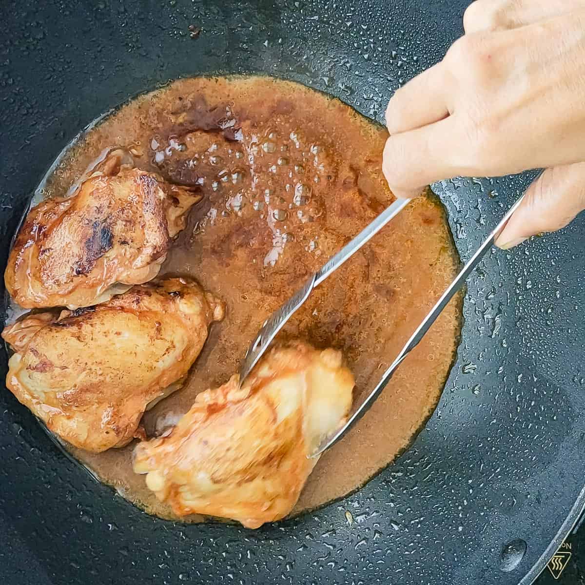
<instances>
[{"instance_id":1,"label":"shiny silver metal tongs gripping a chicken piece","mask_svg":"<svg viewBox=\"0 0 585 585\"><path fill-rule=\"evenodd\" d=\"M364 414L369 410L376 398L380 395L381 391L384 390L388 381L394 374L394 371L400 366L402 360L411 352L414 347L418 345L420 340L424 337L425 333L429 330L431 325L435 322L436 318L441 314L443 309L446 307L448 302L451 300L453 295L463 286L466 278L472 272L472 270L479 264L479 261L483 258L484 254L493 245L494 240L500 235L504 226L510 219L511 215L517 209L518 205L524 198L524 195L518 198L518 200L512 205L510 211L504 215L504 218L495 226L494 230L490 233L486 240L481 244L476 253L467 261L463 269L455 277L455 280L449 285L449 287L443 292L441 298L436 302L435 306L431 309L428 315L422 320L422 323L417 327L411 338L407 341L406 345L402 348L401 352L391 364L390 367L384 372L381 380L377 386L368 394L362 403L356 405L353 408L352 414L347 419L347 422L341 426L338 431L333 435L328 436L321 442L321 445L315 449L309 457L316 457L321 455L326 449L329 449L334 443L338 442L352 427L363 417ZM285 304L274 312L267 321L264 322L260 332L250 344L246 352L246 357L240 367L240 383L242 383L248 376L250 371L256 365L260 357L263 356L264 352L270 345L270 342L274 339L274 336L280 331L283 325L290 319L291 315L297 311L299 307L307 300L311 291L319 284L321 284L325 278L329 276L333 271L339 268L350 256L352 256L357 250L359 250L366 242L368 242L374 235L376 235L394 216L396 216L402 209L408 205L409 199L397 199L390 207L383 211L373 222L370 223L365 229L362 230L351 242L346 246L343 246L338 253L335 254L329 260L321 270L316 272L309 278L304 287L292 296Z\"/></svg>"}]
</instances>

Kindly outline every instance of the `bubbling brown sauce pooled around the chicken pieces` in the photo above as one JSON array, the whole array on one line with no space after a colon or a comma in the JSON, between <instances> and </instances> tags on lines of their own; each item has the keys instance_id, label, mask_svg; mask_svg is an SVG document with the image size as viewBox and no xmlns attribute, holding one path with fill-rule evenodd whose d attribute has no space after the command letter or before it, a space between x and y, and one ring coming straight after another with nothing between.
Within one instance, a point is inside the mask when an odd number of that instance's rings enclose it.
<instances>
[{"instance_id":1,"label":"bubbling brown sauce pooled around the chicken pieces","mask_svg":"<svg viewBox=\"0 0 585 585\"><path fill-rule=\"evenodd\" d=\"M173 424L197 393L228 380L264 319L392 201L380 170L386 136L349 106L299 84L194 78L134 99L68 151L45 194L66 193L106 149L122 146L137 167L199 184L205 195L161 275L194 276L228 313L212 327L184 388L147 412L147 433ZM445 211L429 193L320 285L281 338L341 349L359 399L457 264ZM460 312L455 299L357 428L322 456L294 513L362 486L408 446L441 395ZM70 450L128 500L173 518L132 472L133 447Z\"/></svg>"}]
</instances>

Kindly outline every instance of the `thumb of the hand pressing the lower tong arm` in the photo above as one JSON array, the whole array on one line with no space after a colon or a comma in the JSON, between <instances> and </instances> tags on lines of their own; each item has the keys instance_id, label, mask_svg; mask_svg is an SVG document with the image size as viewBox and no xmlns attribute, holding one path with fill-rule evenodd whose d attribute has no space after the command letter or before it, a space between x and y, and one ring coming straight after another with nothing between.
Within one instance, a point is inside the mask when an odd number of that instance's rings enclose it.
<instances>
[{"instance_id":1,"label":"thumb of the hand pressing the lower tong arm","mask_svg":"<svg viewBox=\"0 0 585 585\"><path fill-rule=\"evenodd\" d=\"M585 209L585 163L546 169L528 190L495 245L503 250L541 232L564 228Z\"/></svg>"}]
</instances>

